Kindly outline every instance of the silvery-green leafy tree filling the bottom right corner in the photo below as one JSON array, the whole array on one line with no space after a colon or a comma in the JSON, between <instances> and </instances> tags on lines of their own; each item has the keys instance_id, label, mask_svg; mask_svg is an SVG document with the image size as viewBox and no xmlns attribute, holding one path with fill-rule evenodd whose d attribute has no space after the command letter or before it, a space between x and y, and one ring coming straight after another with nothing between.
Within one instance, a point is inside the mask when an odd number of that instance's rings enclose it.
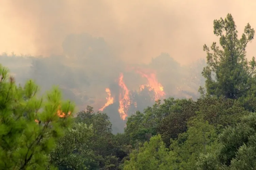
<instances>
[{"instance_id":1,"label":"silvery-green leafy tree filling the bottom right corner","mask_svg":"<svg viewBox=\"0 0 256 170\"><path fill-rule=\"evenodd\" d=\"M241 123L228 126L219 135L215 151L199 156L198 169L255 169L256 115L244 116Z\"/></svg>"}]
</instances>

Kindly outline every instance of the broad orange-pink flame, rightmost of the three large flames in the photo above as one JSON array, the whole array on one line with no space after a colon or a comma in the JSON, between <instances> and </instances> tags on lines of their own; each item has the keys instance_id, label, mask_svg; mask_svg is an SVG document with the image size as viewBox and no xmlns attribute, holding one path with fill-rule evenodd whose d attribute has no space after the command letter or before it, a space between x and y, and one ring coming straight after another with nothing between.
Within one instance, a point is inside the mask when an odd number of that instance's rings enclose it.
<instances>
[{"instance_id":1,"label":"broad orange-pink flame, rightmost of the three large flames","mask_svg":"<svg viewBox=\"0 0 256 170\"><path fill-rule=\"evenodd\" d=\"M144 89L145 87L149 87L150 91L155 92L155 100L164 97L165 92L163 91L163 86L158 83L155 73L146 74L140 70L137 70L137 73L139 73L142 77L145 77L148 81L148 84L140 86L140 90Z\"/></svg>"}]
</instances>

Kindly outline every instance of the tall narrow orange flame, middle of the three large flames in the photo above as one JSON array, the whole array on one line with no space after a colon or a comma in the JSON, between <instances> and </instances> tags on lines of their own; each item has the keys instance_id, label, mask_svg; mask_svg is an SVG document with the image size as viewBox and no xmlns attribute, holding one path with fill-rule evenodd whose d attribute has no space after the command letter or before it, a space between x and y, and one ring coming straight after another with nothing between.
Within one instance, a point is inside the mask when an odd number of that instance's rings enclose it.
<instances>
[{"instance_id":1,"label":"tall narrow orange flame, middle of the three large flames","mask_svg":"<svg viewBox=\"0 0 256 170\"><path fill-rule=\"evenodd\" d=\"M123 73L120 73L120 77L119 77L119 86L122 88L122 94L119 94L119 109L118 112L121 116L121 118L123 120L126 119L127 115L127 111L129 109L130 106L130 97L129 97L129 90L126 87L124 81L123 81L124 75Z\"/></svg>"}]
</instances>

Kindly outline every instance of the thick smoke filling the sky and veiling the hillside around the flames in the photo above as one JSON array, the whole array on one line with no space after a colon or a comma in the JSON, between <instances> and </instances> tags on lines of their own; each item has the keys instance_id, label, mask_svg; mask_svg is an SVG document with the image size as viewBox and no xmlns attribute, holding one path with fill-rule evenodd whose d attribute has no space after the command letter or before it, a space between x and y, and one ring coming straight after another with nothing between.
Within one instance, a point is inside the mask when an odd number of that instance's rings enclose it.
<instances>
[{"instance_id":1,"label":"thick smoke filling the sky and veiling the hillside around the flames","mask_svg":"<svg viewBox=\"0 0 256 170\"><path fill-rule=\"evenodd\" d=\"M149 98L154 92L139 91L140 85L150 83L134 68L155 73L165 97L196 99L199 85L204 84L203 44L218 41L213 20L231 13L239 33L247 22L255 28L255 4L250 0L1 0L0 52L14 51L22 57L4 54L0 62L19 83L32 78L42 91L59 85L79 109L104 106L109 88L114 103L104 111L116 121L120 120L116 115L121 72L130 99L138 106L132 103L130 110L143 111L154 103ZM255 42L246 49L249 58L256 52ZM116 126L120 129L123 124Z\"/></svg>"}]
</instances>

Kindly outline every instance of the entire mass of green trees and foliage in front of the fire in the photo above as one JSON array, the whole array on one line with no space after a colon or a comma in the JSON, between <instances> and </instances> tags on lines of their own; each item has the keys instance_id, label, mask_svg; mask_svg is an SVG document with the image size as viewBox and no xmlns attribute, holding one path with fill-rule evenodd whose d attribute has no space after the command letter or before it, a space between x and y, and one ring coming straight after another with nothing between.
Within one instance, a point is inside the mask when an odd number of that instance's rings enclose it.
<instances>
[{"instance_id":1,"label":"entire mass of green trees and foliage in front of the fire","mask_svg":"<svg viewBox=\"0 0 256 170\"><path fill-rule=\"evenodd\" d=\"M255 60L245 58L254 29L238 39L230 14L213 24L222 49L204 45L202 97L156 101L116 135L106 113L87 106L72 118L58 89L39 98L0 66L0 169L256 169Z\"/></svg>"}]
</instances>

